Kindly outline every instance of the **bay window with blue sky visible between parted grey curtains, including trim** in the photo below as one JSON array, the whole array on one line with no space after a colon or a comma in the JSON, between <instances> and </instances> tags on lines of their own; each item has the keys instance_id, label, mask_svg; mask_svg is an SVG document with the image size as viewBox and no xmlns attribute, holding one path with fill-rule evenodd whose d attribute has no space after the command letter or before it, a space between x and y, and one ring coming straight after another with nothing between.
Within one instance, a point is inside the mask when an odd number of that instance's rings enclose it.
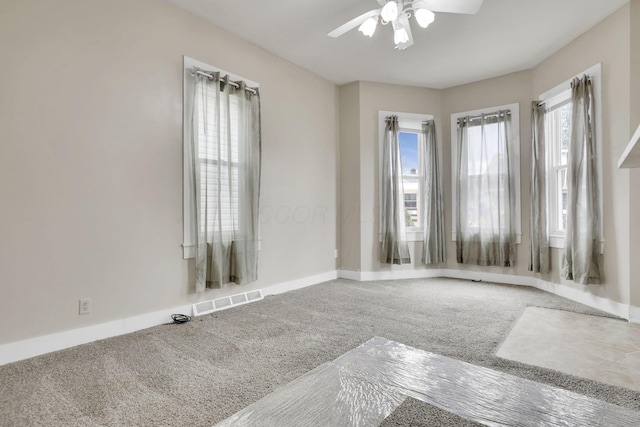
<instances>
[{"instance_id":1,"label":"bay window with blue sky visible between parted grey curtains, including trim","mask_svg":"<svg viewBox=\"0 0 640 427\"><path fill-rule=\"evenodd\" d=\"M422 164L423 150L420 148L422 140L422 122L432 120L433 116L426 114L398 113L392 111L379 111L379 136L380 150L384 144L384 120L385 117L398 116L400 126L399 145L400 162L402 163L402 184L404 188L404 212L408 241L421 241L423 239L423 212L422 212ZM382 156L380 157L380 161Z\"/></svg>"}]
</instances>

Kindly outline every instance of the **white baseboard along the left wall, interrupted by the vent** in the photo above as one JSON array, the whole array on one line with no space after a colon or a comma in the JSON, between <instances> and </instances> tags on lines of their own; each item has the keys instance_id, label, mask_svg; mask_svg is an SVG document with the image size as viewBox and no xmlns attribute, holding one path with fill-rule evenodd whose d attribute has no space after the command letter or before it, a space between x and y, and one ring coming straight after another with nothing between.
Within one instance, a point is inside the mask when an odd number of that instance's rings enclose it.
<instances>
[{"instance_id":1,"label":"white baseboard along the left wall, interrupted by the vent","mask_svg":"<svg viewBox=\"0 0 640 427\"><path fill-rule=\"evenodd\" d=\"M315 276L266 286L262 288L262 294L264 296L277 295L337 278L337 271L329 271ZM105 338L129 334L131 332L162 325L163 323L169 323L171 322L172 314L191 314L191 309L191 304L188 304L168 310L160 310L153 313L58 332L23 341L0 344L0 366Z\"/></svg>"}]
</instances>

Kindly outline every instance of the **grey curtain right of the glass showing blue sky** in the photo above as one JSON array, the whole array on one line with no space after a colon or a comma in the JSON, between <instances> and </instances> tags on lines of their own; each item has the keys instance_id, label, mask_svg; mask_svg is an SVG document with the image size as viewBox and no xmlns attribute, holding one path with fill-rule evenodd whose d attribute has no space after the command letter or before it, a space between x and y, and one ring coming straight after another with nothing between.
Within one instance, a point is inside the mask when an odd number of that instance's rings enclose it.
<instances>
[{"instance_id":1,"label":"grey curtain right of the glass showing blue sky","mask_svg":"<svg viewBox=\"0 0 640 427\"><path fill-rule=\"evenodd\" d=\"M433 120L422 124L420 176L423 177L422 206L424 212L424 239L422 262L439 264L446 261L444 234L444 202L438 160L436 125Z\"/></svg>"}]
</instances>

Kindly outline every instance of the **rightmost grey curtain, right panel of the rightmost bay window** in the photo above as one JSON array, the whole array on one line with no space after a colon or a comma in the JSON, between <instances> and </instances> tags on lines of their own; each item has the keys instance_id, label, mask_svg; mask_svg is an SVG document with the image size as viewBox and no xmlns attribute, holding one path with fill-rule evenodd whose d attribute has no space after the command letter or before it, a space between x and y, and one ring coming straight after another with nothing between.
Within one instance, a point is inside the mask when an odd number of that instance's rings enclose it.
<instances>
[{"instance_id":1,"label":"rightmost grey curtain, right panel of the rightmost bay window","mask_svg":"<svg viewBox=\"0 0 640 427\"><path fill-rule=\"evenodd\" d=\"M593 82L571 83L571 138L567 159L567 225L562 277L583 285L600 283L601 218Z\"/></svg>"}]
</instances>

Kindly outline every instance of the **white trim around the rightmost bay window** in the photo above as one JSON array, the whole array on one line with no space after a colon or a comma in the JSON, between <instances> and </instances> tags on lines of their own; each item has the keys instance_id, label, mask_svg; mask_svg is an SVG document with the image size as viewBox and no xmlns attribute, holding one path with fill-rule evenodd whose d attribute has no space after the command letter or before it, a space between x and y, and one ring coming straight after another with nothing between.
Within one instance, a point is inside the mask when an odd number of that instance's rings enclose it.
<instances>
[{"instance_id":1,"label":"white trim around the rightmost bay window","mask_svg":"<svg viewBox=\"0 0 640 427\"><path fill-rule=\"evenodd\" d=\"M562 94L564 94L567 90L571 90L571 82L573 81L574 78L576 77L582 77L583 75L587 74L589 77L591 77L591 80L593 82L593 96L595 97L594 100L594 106L595 106L595 120L596 120L596 154L598 156L598 163L597 163L597 168L598 168L598 193L599 193L599 205L600 205L600 235L604 236L604 216L603 216L603 210L604 210L604 203L603 203L603 176L602 176L602 108L600 107L601 104L601 100L602 100L602 63L597 63L596 65L592 66L591 68L589 68L588 70L585 70L573 77L571 77L568 80L565 80L564 82L562 82L561 84L555 86L554 88L546 91L545 93L543 93L542 95L540 95L538 97L538 100L540 102L550 102L553 101L554 98L557 98L559 96L561 96ZM545 150L547 158L545 159L546 165L545 165L545 170L548 170L549 167L549 150ZM547 211L550 210L551 208L551 200L549 198L549 181L547 180L547 188L546 188L546 194L547 194ZM547 225L547 227L549 227ZM557 248L557 249L564 249L564 234L562 233L551 233L551 231L547 228L547 232L549 234L549 246L551 246L552 248ZM602 238L602 240L600 240L600 253L604 253L604 237Z\"/></svg>"}]
</instances>

